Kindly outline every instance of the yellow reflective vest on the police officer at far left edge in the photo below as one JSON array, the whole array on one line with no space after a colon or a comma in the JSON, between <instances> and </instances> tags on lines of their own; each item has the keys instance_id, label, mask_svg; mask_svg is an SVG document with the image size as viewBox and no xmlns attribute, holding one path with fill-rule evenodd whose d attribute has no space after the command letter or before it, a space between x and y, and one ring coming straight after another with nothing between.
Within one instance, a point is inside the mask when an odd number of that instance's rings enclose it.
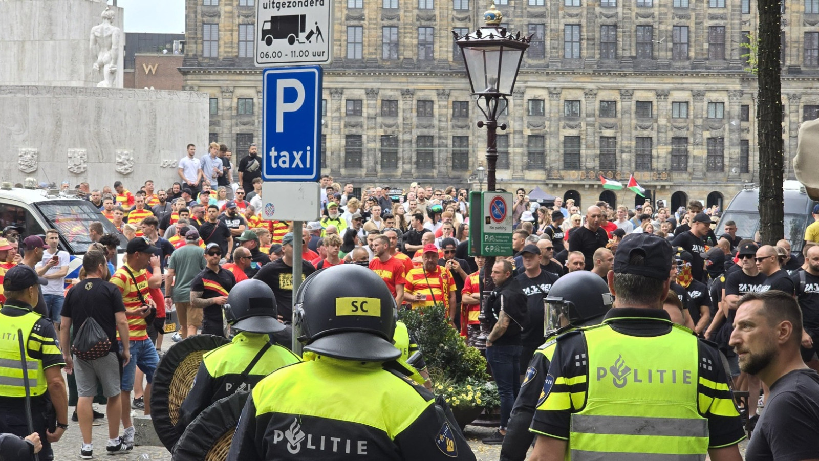
<instances>
[{"instance_id":1,"label":"yellow reflective vest on the police officer at far left edge","mask_svg":"<svg viewBox=\"0 0 819 461\"><path fill-rule=\"evenodd\" d=\"M18 329L23 331L30 394L43 395L48 390L43 361L32 359L29 356L29 336L38 319L42 317L34 312L28 312L19 317L0 314L0 396L25 397L23 364L20 361L20 340L17 338Z\"/></svg>"}]
</instances>

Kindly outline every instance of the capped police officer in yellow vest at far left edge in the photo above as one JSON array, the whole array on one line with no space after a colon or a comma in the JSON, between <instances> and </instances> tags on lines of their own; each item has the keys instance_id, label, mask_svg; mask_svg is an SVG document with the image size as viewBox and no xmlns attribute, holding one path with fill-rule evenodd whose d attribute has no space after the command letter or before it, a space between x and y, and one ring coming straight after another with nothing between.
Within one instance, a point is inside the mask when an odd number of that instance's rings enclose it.
<instances>
[{"instance_id":1,"label":"capped police officer in yellow vest at far left edge","mask_svg":"<svg viewBox=\"0 0 819 461\"><path fill-rule=\"evenodd\" d=\"M34 269L18 264L8 270L2 285L6 303L0 309L0 432L28 436L25 414L25 380L17 330L23 332L25 364L29 377L31 416L34 431L43 442L40 459L49 461L51 444L60 440L68 428L68 395L61 368L66 365L50 320L33 311L39 285L46 285ZM57 427L48 430L48 407L53 405Z\"/></svg>"}]
</instances>

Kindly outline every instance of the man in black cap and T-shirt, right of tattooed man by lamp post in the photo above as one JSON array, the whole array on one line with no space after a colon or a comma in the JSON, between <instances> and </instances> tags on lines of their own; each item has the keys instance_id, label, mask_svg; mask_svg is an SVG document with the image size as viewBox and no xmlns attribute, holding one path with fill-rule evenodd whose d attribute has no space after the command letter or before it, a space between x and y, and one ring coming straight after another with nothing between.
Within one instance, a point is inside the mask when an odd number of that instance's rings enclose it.
<instances>
[{"instance_id":1,"label":"man in black cap and T-shirt, right of tattooed man by lamp post","mask_svg":"<svg viewBox=\"0 0 819 461\"><path fill-rule=\"evenodd\" d=\"M554 211L559 213L559 211ZM548 242L541 240L540 242ZM520 251L523 259L523 273L515 278L518 280L523 294L526 295L526 306L529 312L529 322L521 333L520 374L526 373L526 368L538 346L543 344L543 300L549 295L552 283L557 282L559 276L550 273L541 266L541 249L531 243L523 246Z\"/></svg>"}]
</instances>

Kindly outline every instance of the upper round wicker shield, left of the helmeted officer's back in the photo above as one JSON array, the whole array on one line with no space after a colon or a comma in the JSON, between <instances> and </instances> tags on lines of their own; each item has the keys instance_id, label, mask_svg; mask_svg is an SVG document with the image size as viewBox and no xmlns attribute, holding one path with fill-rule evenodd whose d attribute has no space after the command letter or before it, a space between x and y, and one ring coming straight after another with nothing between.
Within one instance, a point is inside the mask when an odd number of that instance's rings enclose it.
<instances>
[{"instance_id":1,"label":"upper round wicker shield, left of the helmeted officer's back","mask_svg":"<svg viewBox=\"0 0 819 461\"><path fill-rule=\"evenodd\" d=\"M174 450L181 436L174 425L179 420L179 407L193 387L202 356L229 343L224 337L196 335L174 344L162 357L151 388L151 415L156 435L168 451Z\"/></svg>"}]
</instances>

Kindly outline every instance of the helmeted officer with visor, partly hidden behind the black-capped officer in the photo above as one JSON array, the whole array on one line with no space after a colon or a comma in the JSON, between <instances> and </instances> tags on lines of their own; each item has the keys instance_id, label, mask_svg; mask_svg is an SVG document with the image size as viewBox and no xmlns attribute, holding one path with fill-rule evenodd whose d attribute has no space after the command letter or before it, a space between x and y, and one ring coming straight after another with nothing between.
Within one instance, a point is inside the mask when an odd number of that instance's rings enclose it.
<instances>
[{"instance_id":1,"label":"helmeted officer with visor, partly hidden behind the black-capped officer","mask_svg":"<svg viewBox=\"0 0 819 461\"><path fill-rule=\"evenodd\" d=\"M514 402L506 428L504 444L500 449L500 461L523 461L526 459L532 439L529 432L532 416L543 394L543 382L549 372L559 335L577 328L596 325L612 307L609 286L596 273L576 270L559 278L545 298L545 343L535 350L518 398Z\"/></svg>"}]
</instances>

